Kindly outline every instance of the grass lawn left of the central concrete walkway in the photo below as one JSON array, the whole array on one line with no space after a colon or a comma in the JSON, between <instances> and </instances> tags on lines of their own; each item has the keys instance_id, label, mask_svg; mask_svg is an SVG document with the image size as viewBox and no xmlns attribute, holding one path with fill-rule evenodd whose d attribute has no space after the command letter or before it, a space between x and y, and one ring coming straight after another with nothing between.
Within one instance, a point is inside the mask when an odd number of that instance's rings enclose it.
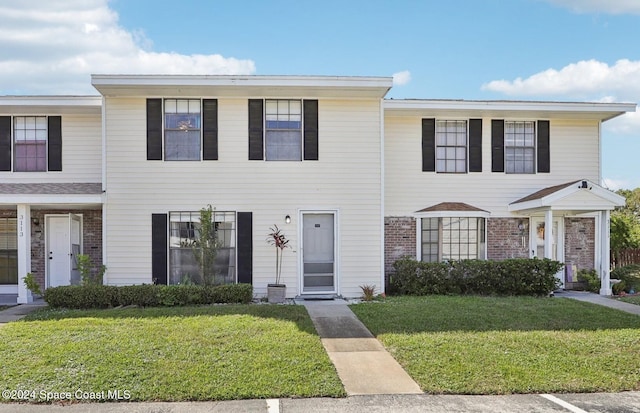
<instances>
[{"instance_id":1,"label":"grass lawn left of the central concrete walkway","mask_svg":"<svg viewBox=\"0 0 640 413\"><path fill-rule=\"evenodd\" d=\"M135 401L345 395L302 306L41 310L0 329L0 360L3 390L128 390Z\"/></svg>"}]
</instances>

